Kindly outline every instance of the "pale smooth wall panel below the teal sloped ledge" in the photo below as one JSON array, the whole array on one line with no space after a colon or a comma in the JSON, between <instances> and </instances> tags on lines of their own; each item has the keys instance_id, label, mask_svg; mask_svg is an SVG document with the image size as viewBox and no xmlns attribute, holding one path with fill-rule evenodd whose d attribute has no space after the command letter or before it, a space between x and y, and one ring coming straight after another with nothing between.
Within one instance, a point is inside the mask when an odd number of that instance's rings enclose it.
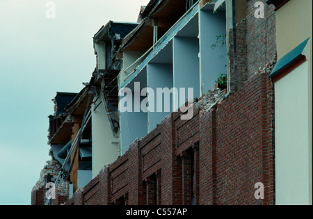
<instances>
[{"instance_id":1,"label":"pale smooth wall panel below the teal sloped ledge","mask_svg":"<svg viewBox=\"0 0 313 219\"><path fill-rule=\"evenodd\" d=\"M310 61L275 83L276 204L312 204Z\"/></svg>"}]
</instances>

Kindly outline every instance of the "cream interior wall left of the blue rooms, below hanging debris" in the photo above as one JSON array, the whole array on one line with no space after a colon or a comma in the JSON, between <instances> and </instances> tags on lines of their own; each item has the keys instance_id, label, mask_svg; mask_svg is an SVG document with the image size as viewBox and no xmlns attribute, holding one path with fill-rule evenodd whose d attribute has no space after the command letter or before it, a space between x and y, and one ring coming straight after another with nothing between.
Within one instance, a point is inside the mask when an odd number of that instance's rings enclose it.
<instances>
[{"instance_id":1,"label":"cream interior wall left of the blue rooms, below hanging debris","mask_svg":"<svg viewBox=\"0 0 313 219\"><path fill-rule=\"evenodd\" d=\"M101 98L97 100L95 106L99 104ZM99 174L104 165L113 163L119 155L118 138L114 138L108 115L104 104L101 103L93 111L91 118L92 138L93 138L93 178Z\"/></svg>"}]
</instances>

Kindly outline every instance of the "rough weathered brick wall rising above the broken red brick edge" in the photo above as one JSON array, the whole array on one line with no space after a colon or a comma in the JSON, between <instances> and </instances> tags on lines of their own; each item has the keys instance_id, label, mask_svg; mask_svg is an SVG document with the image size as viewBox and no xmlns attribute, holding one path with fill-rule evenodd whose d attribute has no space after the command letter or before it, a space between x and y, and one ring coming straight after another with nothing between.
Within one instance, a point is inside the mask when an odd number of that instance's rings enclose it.
<instances>
[{"instance_id":1,"label":"rough weathered brick wall rising above the broken red brick edge","mask_svg":"<svg viewBox=\"0 0 313 219\"><path fill-rule=\"evenodd\" d=\"M264 3L264 18L255 17L255 3L248 0L246 19L230 29L230 90L236 92L257 70L270 63L276 52L275 6ZM235 34L234 34L235 33ZM236 38L234 46L234 38ZM236 55L236 56L235 56Z\"/></svg>"}]
</instances>

